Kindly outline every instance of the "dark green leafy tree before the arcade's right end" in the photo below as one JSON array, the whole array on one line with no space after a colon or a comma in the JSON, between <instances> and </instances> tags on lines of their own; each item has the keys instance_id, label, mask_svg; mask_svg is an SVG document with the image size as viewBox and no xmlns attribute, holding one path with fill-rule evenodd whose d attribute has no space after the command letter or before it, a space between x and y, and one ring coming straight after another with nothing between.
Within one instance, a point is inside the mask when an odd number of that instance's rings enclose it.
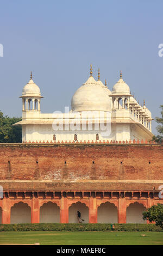
<instances>
[{"instance_id":1,"label":"dark green leafy tree before the arcade's right end","mask_svg":"<svg viewBox=\"0 0 163 256\"><path fill-rule=\"evenodd\" d=\"M149 222L155 222L163 229L163 204L153 205L148 208L147 211L142 213L143 220L148 220Z\"/></svg>"}]
</instances>

